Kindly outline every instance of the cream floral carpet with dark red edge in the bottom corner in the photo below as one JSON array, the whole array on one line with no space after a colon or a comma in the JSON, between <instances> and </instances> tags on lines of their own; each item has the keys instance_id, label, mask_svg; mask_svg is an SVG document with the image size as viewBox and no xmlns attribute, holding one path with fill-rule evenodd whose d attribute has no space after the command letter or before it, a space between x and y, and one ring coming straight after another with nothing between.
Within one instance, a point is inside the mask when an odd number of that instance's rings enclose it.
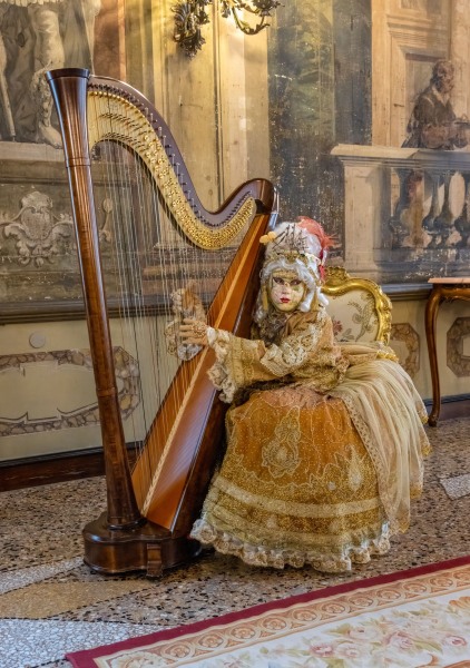
<instances>
[{"instance_id":1,"label":"cream floral carpet with dark red edge in the bottom corner","mask_svg":"<svg viewBox=\"0 0 470 668\"><path fill-rule=\"evenodd\" d=\"M470 557L72 652L76 668L470 668Z\"/></svg>"}]
</instances>

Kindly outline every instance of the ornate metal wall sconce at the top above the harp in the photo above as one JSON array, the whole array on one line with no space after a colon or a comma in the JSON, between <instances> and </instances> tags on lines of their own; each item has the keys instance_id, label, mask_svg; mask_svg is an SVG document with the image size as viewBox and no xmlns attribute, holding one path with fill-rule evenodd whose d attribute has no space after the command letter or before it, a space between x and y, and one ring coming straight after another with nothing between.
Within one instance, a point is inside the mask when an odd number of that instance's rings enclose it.
<instances>
[{"instance_id":1,"label":"ornate metal wall sconce at the top above the harp","mask_svg":"<svg viewBox=\"0 0 470 668\"><path fill-rule=\"evenodd\" d=\"M273 9L281 4L280 0L219 0L219 2L224 19L233 16L236 27L245 35L257 35L267 28L270 24L267 18L271 17ZM172 8L175 12L174 39L189 58L196 56L206 41L200 35L200 27L209 22L206 7L212 3L213 0L188 0L178 2ZM244 21L239 12L256 17L255 24Z\"/></svg>"}]
</instances>

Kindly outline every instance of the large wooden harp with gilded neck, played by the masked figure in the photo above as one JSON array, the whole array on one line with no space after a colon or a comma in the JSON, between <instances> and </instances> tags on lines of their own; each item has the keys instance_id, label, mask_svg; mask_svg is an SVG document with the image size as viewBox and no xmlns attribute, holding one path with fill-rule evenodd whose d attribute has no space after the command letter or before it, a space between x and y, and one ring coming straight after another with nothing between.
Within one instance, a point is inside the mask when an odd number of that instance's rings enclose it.
<instances>
[{"instance_id":1,"label":"large wooden harp with gilded neck, played by the masked figure","mask_svg":"<svg viewBox=\"0 0 470 668\"><path fill-rule=\"evenodd\" d=\"M165 350L168 295L190 281L209 324L247 335L258 242L274 223L276 190L266 179L249 180L206 210L144 96L82 69L47 79L62 134L105 459L107 510L84 528L85 561L105 573L156 577L200 550L188 533L224 430L224 406L207 377L212 351L170 361ZM112 323L131 332L133 354L116 346ZM127 402L117 354L127 355L134 386Z\"/></svg>"}]
</instances>

